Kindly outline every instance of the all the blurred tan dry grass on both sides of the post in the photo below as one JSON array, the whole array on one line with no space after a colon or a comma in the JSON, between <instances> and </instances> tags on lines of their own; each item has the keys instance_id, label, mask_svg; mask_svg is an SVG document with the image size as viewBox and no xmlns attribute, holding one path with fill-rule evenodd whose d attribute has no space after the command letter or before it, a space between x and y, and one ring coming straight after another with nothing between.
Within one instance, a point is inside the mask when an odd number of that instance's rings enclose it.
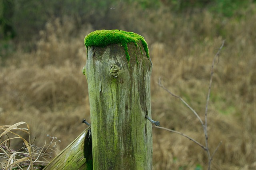
<instances>
[{"instance_id":1,"label":"all the blurred tan dry grass on both sides of the post","mask_svg":"<svg viewBox=\"0 0 256 170\"><path fill-rule=\"evenodd\" d=\"M160 9L154 14L143 13L148 16L142 21L143 27L136 20L141 13L133 12L134 29L146 38L153 63L153 119L201 143L204 134L200 122L157 81L162 77L164 86L203 117L212 58L226 39L215 65L208 112L211 152L223 141L212 169L256 168L255 9L252 6L240 19L217 18L207 11L179 17ZM132 18L126 17L125 21ZM60 150L64 149L84 130L82 119L90 117L86 78L81 70L86 62L83 39L93 29L84 25L77 30L72 25L70 18L49 21L40 32L35 51L17 51L6 67L0 68L0 124L27 122L37 146L43 146L45 135L52 134L62 141ZM153 129L153 135L154 169L207 167L204 150L188 139L161 129Z\"/></svg>"}]
</instances>

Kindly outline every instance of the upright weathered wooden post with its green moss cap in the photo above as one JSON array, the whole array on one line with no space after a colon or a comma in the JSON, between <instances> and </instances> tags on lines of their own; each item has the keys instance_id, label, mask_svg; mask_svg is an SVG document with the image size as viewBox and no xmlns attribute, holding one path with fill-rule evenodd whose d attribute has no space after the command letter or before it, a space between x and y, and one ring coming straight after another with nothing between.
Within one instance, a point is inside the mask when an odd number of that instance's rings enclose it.
<instances>
[{"instance_id":1,"label":"upright weathered wooden post with its green moss cap","mask_svg":"<svg viewBox=\"0 0 256 170\"><path fill-rule=\"evenodd\" d=\"M152 169L150 76L144 38L120 30L88 34L87 61L93 169Z\"/></svg>"}]
</instances>

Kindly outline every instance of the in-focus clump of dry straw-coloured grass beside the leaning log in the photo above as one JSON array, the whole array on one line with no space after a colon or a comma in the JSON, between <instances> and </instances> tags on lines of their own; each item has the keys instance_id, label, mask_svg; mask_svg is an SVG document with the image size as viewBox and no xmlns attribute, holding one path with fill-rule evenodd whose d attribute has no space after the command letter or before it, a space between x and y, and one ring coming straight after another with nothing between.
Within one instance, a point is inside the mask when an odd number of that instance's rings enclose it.
<instances>
[{"instance_id":1,"label":"in-focus clump of dry straw-coloured grass beside the leaning log","mask_svg":"<svg viewBox=\"0 0 256 170\"><path fill-rule=\"evenodd\" d=\"M22 125L26 125L26 127L20 127ZM50 137L50 135L47 135L50 141L47 143L45 141L42 147L33 145L34 142L30 139L29 125L25 122L21 121L14 125L2 125L0 129L2 131L0 134L0 139L2 139L0 143L1 170L39 169L47 165L52 156L58 153L55 148L60 141L57 141L56 137ZM33 139L35 140L35 137ZM19 140L23 142L23 146L18 150L13 149L13 144Z\"/></svg>"}]
</instances>

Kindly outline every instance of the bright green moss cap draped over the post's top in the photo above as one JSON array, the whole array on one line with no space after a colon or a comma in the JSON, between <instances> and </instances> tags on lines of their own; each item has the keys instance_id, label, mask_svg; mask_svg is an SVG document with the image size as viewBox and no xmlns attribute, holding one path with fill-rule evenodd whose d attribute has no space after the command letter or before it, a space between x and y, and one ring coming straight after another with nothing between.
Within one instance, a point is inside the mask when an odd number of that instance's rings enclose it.
<instances>
[{"instance_id":1,"label":"bright green moss cap draped over the post's top","mask_svg":"<svg viewBox=\"0 0 256 170\"><path fill-rule=\"evenodd\" d=\"M146 43L144 37L133 32L126 32L118 29L93 31L84 38L84 45L86 46L86 49L88 49L89 46L106 47L110 44L119 43L124 47L126 58L129 61L130 55L128 53L127 44L134 43L134 45L137 47L138 41L141 41L146 55L149 58L148 44Z\"/></svg>"}]
</instances>

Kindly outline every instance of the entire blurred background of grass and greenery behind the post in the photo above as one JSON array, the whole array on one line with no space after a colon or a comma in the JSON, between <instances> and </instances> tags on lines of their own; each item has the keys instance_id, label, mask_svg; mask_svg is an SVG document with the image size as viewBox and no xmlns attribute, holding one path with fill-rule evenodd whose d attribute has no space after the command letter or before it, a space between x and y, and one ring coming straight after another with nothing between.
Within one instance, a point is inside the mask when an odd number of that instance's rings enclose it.
<instances>
[{"instance_id":1,"label":"entire blurred background of grass and greenery behind the post","mask_svg":"<svg viewBox=\"0 0 256 170\"><path fill-rule=\"evenodd\" d=\"M158 77L204 117L211 152L223 141L216 170L256 169L255 0L0 1L0 125L25 121L34 144L58 137L64 149L90 122L84 37L122 29L145 37L153 63L152 118L204 143L200 122L158 85ZM179 135L153 129L154 169L207 167L204 150ZM22 142L11 143L16 148Z\"/></svg>"}]
</instances>

